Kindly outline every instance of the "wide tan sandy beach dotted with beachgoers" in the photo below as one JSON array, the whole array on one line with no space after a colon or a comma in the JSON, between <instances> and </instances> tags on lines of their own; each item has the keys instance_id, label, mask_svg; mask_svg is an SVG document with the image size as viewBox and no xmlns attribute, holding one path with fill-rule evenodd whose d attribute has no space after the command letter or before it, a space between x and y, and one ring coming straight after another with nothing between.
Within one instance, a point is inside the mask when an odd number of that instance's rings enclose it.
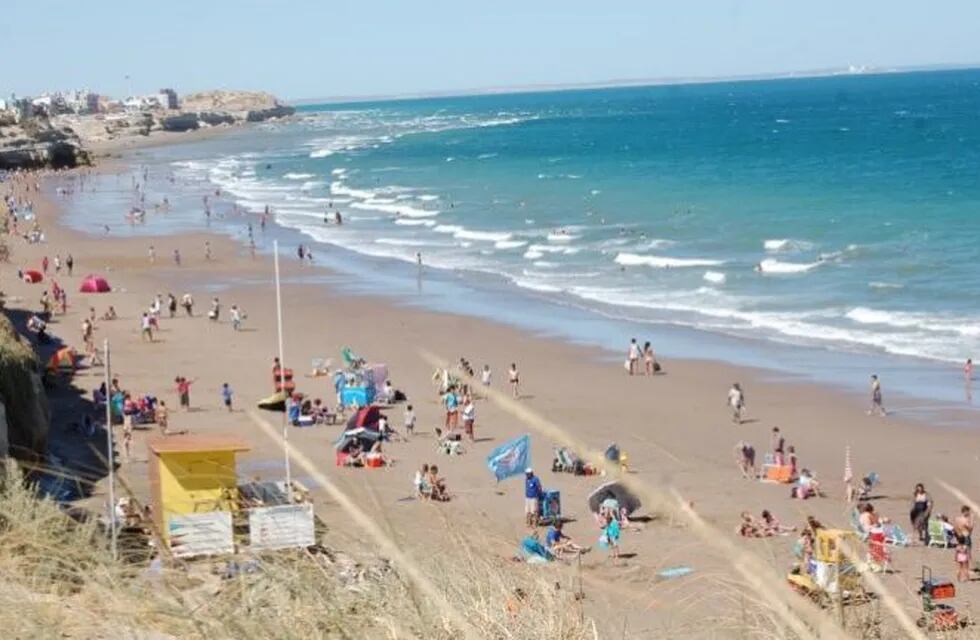
<instances>
[{"instance_id":1,"label":"wide tan sandy beach dotted with beachgoers","mask_svg":"<svg viewBox=\"0 0 980 640\"><path fill-rule=\"evenodd\" d=\"M126 168L117 164L107 170ZM17 281L17 267L40 268L44 256L64 259L71 253L73 275L56 276L69 292L68 310L64 315L55 313L52 334L81 348L80 323L89 308L94 307L101 317L109 305L114 306L118 319L97 322L95 337L99 344L110 340L112 373L123 388L166 401L172 428L245 438L252 449L241 458L241 475L279 477L279 443L263 434L253 416L255 403L272 391L271 366L277 349L271 260L253 258L246 247L218 235L141 239L79 234L59 224L59 215L71 206L71 198L85 195L56 196L54 184L45 180L44 193L31 196L47 242L12 243L12 261L4 266L0 280L8 308L36 310L46 286ZM154 224L153 215L149 215L148 226ZM211 260L205 259L205 242L210 242ZM156 252L152 263L149 244ZM174 249L182 256L179 267L171 257ZM906 531L910 531L908 512L915 483L923 482L930 491L934 513L950 517L959 511L961 502L941 488L940 481L968 495L977 494L976 438L965 429L939 428L896 416L869 416L867 402L855 395L779 382L769 372L723 363L671 360L663 363L664 375L629 377L621 364L610 364L607 352L523 333L495 323L494 318L475 320L374 296L341 295L329 283L329 274L325 285L297 283L314 268L298 264L295 247L283 248L282 268L285 362L297 372L298 389L332 405L329 379L299 374L310 368L314 358L339 362L341 348L350 346L368 360L388 365L394 385L408 395L418 415L418 434L387 447L396 462L384 470L336 467L333 442L339 426L291 428L290 446L313 459L336 487L372 514L402 548L419 557L451 550L459 536L489 556L501 558L502 563L513 556L526 535L522 483L510 479L496 485L485 464L489 451L512 437L532 433L533 466L546 488L561 491L563 511L572 519L566 532L582 544L594 545L598 537L586 500L605 480L552 473L553 443L492 401L477 401L477 441L466 445L464 455L438 453L433 431L442 424L444 414L431 382L433 367L423 355L426 352L447 365L461 356L478 370L489 364L494 387L504 391L507 369L516 362L523 405L595 449L618 443L628 453L631 472L638 478L675 489L718 536L730 538L778 574L784 574L791 563L795 535L739 538L735 529L740 512L758 516L768 509L785 524L800 526L807 516L814 516L826 526L849 528L853 505L844 500L842 481L848 446L856 479L871 471L881 477L874 491L881 496L874 501L877 511ZM325 273L319 268L315 272ZM90 273L104 275L113 291L78 293L81 279ZM196 303L194 317L185 317L181 310L170 319L164 312L154 341L141 340L139 318L153 296L173 293L179 299L187 292ZM214 296L223 307L219 322L205 317ZM234 331L228 321L227 310L233 304L247 313L242 331ZM623 336L623 354L631 337ZM655 331L636 337L657 346ZM102 375L101 367L93 367L79 372L71 384L90 395ZM177 410L176 376L194 380L189 412ZM735 381L741 383L748 399L747 420L741 425L732 424L726 406L726 393ZM220 388L226 382L234 390L232 412L222 406ZM885 384L887 393L887 381ZM58 393L52 396L51 452L69 468L95 465L91 454L85 453L84 437L71 430L71 409L58 404ZM886 404L887 400L886 395ZM404 406L397 405L387 412L399 429L403 411ZM278 428L279 414L256 415ZM774 426L795 447L799 466L816 473L825 498L795 500L790 498L788 485L741 477L734 462L736 443L752 443L761 462ZM122 462L120 476L137 497L147 495L144 441L155 434L155 429L137 430L132 456ZM121 451L118 445L117 450ZM439 465L453 495L450 502L411 499L412 476L425 462ZM303 482L312 482L302 472L296 475ZM317 514L328 525L331 543L363 545L362 532L345 512L322 489L310 488ZM104 491L101 482L88 506L100 508L106 499ZM658 505L645 505L642 513L653 518L635 531L624 532L622 549L628 558L616 564L598 550L584 557L581 571L590 614L612 628L653 637L668 629L690 631L693 627L688 625L697 624L705 615L723 616L737 610L740 579L730 559L707 547L687 527L660 517L663 511ZM955 573L949 550L912 546L892 549L892 556L895 571L881 578L910 615L917 614L920 565L930 565L947 576ZM675 580L658 578L659 571L671 567L691 567L694 572ZM544 567L542 571L554 571L556 579L570 579L574 573L568 567ZM719 591L719 585L727 586ZM964 601L980 597L976 583L961 586L961 590ZM695 631L694 635L716 637L703 633Z\"/></svg>"}]
</instances>

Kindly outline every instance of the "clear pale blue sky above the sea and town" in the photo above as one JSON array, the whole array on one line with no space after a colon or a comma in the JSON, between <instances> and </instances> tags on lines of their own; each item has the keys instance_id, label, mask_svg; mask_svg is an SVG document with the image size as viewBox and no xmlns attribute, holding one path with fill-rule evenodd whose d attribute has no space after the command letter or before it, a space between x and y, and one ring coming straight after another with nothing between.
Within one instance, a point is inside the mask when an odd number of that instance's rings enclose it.
<instances>
[{"instance_id":1,"label":"clear pale blue sky above the sea and town","mask_svg":"<svg viewBox=\"0 0 980 640\"><path fill-rule=\"evenodd\" d=\"M980 63L978 25L977 0L4 0L0 92L298 99Z\"/></svg>"}]
</instances>

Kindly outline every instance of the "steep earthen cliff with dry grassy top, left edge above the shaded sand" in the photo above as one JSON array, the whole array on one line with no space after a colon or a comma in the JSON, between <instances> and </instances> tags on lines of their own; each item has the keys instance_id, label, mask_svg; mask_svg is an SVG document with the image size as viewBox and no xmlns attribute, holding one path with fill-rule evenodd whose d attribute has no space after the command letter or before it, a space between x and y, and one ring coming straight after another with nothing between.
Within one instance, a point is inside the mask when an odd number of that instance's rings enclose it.
<instances>
[{"instance_id":1,"label":"steep earthen cliff with dry grassy top, left edge above the shaded sand","mask_svg":"<svg viewBox=\"0 0 980 640\"><path fill-rule=\"evenodd\" d=\"M42 459L50 413L34 350L0 313L0 456Z\"/></svg>"}]
</instances>

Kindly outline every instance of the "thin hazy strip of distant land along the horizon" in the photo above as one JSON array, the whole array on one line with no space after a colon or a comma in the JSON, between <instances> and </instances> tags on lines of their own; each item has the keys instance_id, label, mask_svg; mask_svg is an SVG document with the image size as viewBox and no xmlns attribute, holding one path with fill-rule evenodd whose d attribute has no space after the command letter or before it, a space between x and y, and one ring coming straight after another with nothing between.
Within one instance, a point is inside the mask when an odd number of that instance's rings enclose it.
<instances>
[{"instance_id":1,"label":"thin hazy strip of distant land along the horizon","mask_svg":"<svg viewBox=\"0 0 980 640\"><path fill-rule=\"evenodd\" d=\"M319 104L352 104L358 102L394 102L400 100L424 100L427 98L465 98L521 93L557 93L561 91L584 91L589 89L615 89L626 87L654 87L689 84L722 84L726 82L758 82L762 80L794 80L834 76L876 76L891 73L965 71L969 69L980 69L980 62L901 65L894 67L850 65L848 67L775 71L769 73L738 74L732 76L664 76L659 78L614 78L584 82L494 85L488 87L473 87L468 89L435 89L431 91L407 93L354 94L324 96L317 98L298 98L295 100L286 100L286 103L294 106L310 106Z\"/></svg>"}]
</instances>

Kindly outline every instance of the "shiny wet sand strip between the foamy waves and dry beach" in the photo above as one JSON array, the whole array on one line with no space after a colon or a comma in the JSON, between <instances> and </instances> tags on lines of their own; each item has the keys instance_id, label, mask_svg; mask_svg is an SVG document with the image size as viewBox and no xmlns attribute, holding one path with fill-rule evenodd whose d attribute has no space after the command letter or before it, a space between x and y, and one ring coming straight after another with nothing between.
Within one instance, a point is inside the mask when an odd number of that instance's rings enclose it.
<instances>
[{"instance_id":1,"label":"shiny wet sand strip between the foamy waves and dry beach","mask_svg":"<svg viewBox=\"0 0 980 640\"><path fill-rule=\"evenodd\" d=\"M231 134L234 131L235 128L229 127L220 133ZM210 137L202 136L201 139ZM173 148L179 150L181 143L192 144L194 141L171 138L159 142L173 142ZM141 148L125 149L113 160L124 166L143 164L146 159L139 157ZM153 160L150 156L149 161ZM184 188L177 191L181 189ZM78 219L76 215L74 220ZM163 217L156 216L155 219L165 228L158 231L160 228L154 226L152 216L146 224L118 225L116 228L122 228L125 237L144 239L163 239L182 233L167 228L171 222L164 222ZM246 221L255 222L256 219L255 215L246 213L234 218L237 221L234 224L244 226ZM193 233L206 232L225 237L241 235L241 229L233 228L231 217L216 220L213 225L209 223L207 228L201 224L200 218L196 220L190 224ZM77 225L73 226L77 229ZM946 363L891 353L784 342L766 336L733 335L669 321L644 320L624 315L621 309L615 307L599 304L590 307L580 300L563 299L559 294L535 292L520 286L515 288L508 278L480 271L427 266L424 280L427 291L423 295L421 289L416 291L414 265L397 258L364 254L347 249L342 244L316 241L298 230L280 227L275 222L271 226L275 233L270 235L278 237L281 244L285 240L288 246L297 243L318 245L318 261L313 273L319 273L325 281L333 281L335 286L338 280L341 281L339 289L345 294L375 294L397 306L422 306L439 312L489 318L569 344L598 347L605 351L610 362L624 352L630 335L638 338L652 336L658 354L671 361L701 363L708 367L727 364L747 368L755 371L760 379L788 379L816 384L844 394L858 404L867 400L868 377L871 373L877 373L882 378L889 408L902 417L951 428L971 428L980 415L980 407L973 404L972 390L963 384L958 367ZM266 255L270 253L261 242L258 251ZM448 301L451 298L455 300ZM502 306L497 303L502 303ZM538 317L557 318L558 321L538 321L534 313Z\"/></svg>"}]
</instances>

